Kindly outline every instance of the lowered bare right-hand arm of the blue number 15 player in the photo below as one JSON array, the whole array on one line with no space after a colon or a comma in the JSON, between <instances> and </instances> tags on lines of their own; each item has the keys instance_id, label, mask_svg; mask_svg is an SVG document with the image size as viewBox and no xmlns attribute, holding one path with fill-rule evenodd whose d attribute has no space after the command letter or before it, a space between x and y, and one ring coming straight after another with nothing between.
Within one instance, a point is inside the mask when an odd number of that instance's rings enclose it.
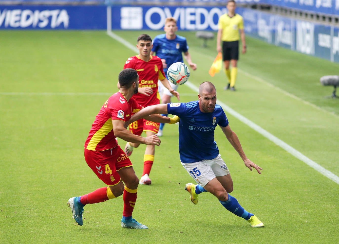
<instances>
[{"instance_id":1,"label":"lowered bare right-hand arm of the blue number 15 player","mask_svg":"<svg viewBox=\"0 0 339 244\"><path fill-rule=\"evenodd\" d=\"M261 174L260 170L262 170L262 168L246 157L244 151L242 150L239 138L236 135L236 133L231 130L231 127L227 125L226 127L220 126L220 128L222 132L225 134L227 140L231 143L233 148L238 152L241 159L244 161L245 166L251 171L253 170L252 168L254 168L259 174Z\"/></svg>"}]
</instances>

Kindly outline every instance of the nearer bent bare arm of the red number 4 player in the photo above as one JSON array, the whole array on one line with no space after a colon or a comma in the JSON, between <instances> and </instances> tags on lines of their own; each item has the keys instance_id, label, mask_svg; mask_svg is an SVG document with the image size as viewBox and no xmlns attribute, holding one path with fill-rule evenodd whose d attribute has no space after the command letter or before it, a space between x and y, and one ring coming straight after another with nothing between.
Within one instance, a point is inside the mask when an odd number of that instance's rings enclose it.
<instances>
[{"instance_id":1,"label":"nearer bent bare arm of the red number 4 player","mask_svg":"<svg viewBox=\"0 0 339 244\"><path fill-rule=\"evenodd\" d=\"M142 137L137 136L126 130L124 127L125 122L122 120L112 120L113 131L116 137L119 137L125 141L133 142L133 143L142 143L146 145L156 145L160 146L160 139L156 135Z\"/></svg>"}]
</instances>

